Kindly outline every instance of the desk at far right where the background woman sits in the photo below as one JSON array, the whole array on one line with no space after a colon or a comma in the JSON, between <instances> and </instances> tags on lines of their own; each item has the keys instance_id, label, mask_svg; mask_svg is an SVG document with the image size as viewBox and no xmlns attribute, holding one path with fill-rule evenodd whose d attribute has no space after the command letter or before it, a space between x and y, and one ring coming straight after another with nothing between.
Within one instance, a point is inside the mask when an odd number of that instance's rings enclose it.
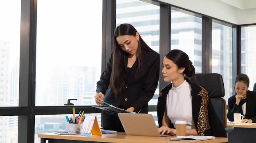
<instances>
[{"instance_id":1,"label":"desk at far right where the background woman sits","mask_svg":"<svg viewBox=\"0 0 256 143\"><path fill-rule=\"evenodd\" d=\"M256 142L256 123L253 124L234 124L228 126L235 127L229 132L229 143L255 143Z\"/></svg>"}]
</instances>

